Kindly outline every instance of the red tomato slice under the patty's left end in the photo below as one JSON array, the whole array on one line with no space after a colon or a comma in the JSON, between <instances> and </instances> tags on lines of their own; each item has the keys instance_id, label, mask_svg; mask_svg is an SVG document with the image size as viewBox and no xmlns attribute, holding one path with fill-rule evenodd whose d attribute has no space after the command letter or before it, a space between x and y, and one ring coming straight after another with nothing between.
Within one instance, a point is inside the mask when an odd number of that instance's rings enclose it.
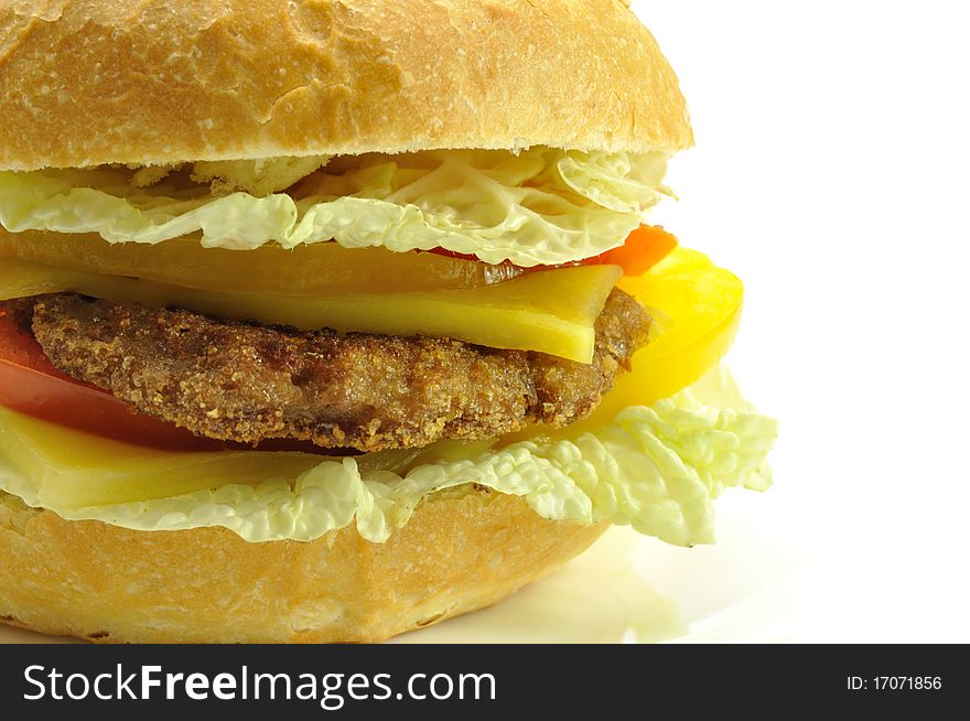
<instances>
[{"instance_id":1,"label":"red tomato slice under the patty's left end","mask_svg":"<svg viewBox=\"0 0 970 721\"><path fill-rule=\"evenodd\" d=\"M33 336L22 333L2 309L0 406L95 435L166 451L250 449L241 443L194 435L174 423L139 413L111 394L61 373ZM310 442L285 439L262 441L256 450L336 452ZM347 453L340 451L340 454Z\"/></svg>"}]
</instances>

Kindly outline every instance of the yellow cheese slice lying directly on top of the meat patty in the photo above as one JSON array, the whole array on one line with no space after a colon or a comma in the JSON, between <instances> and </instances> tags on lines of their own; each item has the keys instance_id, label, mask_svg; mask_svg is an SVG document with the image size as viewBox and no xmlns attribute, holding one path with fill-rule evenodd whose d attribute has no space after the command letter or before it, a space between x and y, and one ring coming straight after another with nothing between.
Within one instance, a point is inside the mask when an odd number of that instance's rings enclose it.
<instances>
[{"instance_id":1,"label":"yellow cheese slice lying directly on top of the meat patty","mask_svg":"<svg viewBox=\"0 0 970 721\"><path fill-rule=\"evenodd\" d=\"M590 363L593 324L622 272L617 266L589 266L531 272L463 290L306 297L185 288L8 259L0 262L0 300L77 292L301 330L448 336Z\"/></svg>"}]
</instances>

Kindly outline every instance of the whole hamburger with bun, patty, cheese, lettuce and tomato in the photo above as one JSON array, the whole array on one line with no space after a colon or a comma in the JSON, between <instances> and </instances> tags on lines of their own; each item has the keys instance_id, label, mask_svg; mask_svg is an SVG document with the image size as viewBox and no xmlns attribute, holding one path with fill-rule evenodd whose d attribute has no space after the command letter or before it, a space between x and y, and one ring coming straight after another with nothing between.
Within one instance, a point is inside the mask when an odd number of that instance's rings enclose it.
<instances>
[{"instance_id":1,"label":"whole hamburger with bun, patty, cheese, lettuce and tomato","mask_svg":"<svg viewBox=\"0 0 970 721\"><path fill-rule=\"evenodd\" d=\"M625 3L24 0L0 84L6 623L377 641L768 486Z\"/></svg>"}]
</instances>

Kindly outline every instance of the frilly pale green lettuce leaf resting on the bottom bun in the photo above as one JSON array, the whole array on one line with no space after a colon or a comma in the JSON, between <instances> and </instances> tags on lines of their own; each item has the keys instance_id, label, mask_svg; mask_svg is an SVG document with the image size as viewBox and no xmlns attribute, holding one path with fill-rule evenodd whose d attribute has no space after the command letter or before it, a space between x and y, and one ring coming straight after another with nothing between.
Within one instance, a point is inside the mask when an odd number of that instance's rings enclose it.
<instances>
[{"instance_id":1,"label":"frilly pale green lettuce leaf resting on the bottom bun","mask_svg":"<svg viewBox=\"0 0 970 721\"><path fill-rule=\"evenodd\" d=\"M691 546L713 541L712 501L724 488L770 485L765 459L776 435L776 422L754 412L730 373L719 367L670 399L627 408L612 423L574 439L422 461L403 476L362 473L357 461L343 459L320 463L292 483L230 484L155 501L51 510L139 530L222 526L249 541L312 540L356 521L364 538L381 542L407 524L428 494L477 483L524 497L545 518L584 525L606 519ZM7 462L0 462L0 488L43 505L30 480Z\"/></svg>"}]
</instances>

